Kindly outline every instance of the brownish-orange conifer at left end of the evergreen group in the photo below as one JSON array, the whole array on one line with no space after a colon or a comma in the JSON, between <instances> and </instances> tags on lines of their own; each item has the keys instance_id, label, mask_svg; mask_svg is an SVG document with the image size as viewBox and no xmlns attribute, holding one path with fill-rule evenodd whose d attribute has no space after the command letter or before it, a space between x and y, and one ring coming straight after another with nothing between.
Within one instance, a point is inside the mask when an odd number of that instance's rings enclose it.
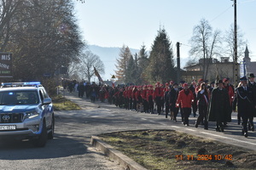
<instances>
[{"instance_id":1,"label":"brownish-orange conifer at left end of the evergreen group","mask_svg":"<svg viewBox=\"0 0 256 170\"><path fill-rule=\"evenodd\" d=\"M125 76L126 76L125 73L126 73L128 61L130 58L131 58L130 48L128 48L128 46L125 47L125 45L123 45L123 47L120 48L119 59L116 59L117 64L115 65L117 68L117 71L115 71L115 73L119 81L125 82Z\"/></svg>"}]
</instances>

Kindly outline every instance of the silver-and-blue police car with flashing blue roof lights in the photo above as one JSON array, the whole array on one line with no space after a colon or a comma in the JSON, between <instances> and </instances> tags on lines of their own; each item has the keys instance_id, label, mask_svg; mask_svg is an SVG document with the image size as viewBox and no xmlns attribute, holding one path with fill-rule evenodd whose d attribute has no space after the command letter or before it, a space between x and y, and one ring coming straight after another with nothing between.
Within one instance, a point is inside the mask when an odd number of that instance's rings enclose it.
<instances>
[{"instance_id":1,"label":"silver-and-blue police car with flashing blue roof lights","mask_svg":"<svg viewBox=\"0 0 256 170\"><path fill-rule=\"evenodd\" d=\"M32 139L44 147L54 138L52 101L40 82L6 82L0 88L0 139Z\"/></svg>"}]
</instances>

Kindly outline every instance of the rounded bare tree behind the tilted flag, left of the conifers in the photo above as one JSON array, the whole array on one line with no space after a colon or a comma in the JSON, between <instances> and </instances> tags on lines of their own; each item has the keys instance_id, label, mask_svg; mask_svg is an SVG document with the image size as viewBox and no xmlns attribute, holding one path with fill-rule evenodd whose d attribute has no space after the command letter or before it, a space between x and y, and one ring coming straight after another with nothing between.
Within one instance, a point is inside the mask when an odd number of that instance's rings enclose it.
<instances>
[{"instance_id":1,"label":"rounded bare tree behind the tilted flag, left of the conifers","mask_svg":"<svg viewBox=\"0 0 256 170\"><path fill-rule=\"evenodd\" d=\"M90 51L86 51L79 56L79 64L76 66L82 79L86 78L88 82L90 82L91 77L95 75L94 67L99 74L105 73L104 64L100 57L96 54L92 54Z\"/></svg>"}]
</instances>

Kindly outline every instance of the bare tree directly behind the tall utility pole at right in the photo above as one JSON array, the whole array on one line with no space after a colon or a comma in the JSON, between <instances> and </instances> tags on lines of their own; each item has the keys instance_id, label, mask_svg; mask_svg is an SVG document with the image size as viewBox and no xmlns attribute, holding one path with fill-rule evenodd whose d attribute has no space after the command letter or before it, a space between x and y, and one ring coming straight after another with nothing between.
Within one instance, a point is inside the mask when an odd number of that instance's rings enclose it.
<instances>
[{"instance_id":1,"label":"bare tree directly behind the tall utility pole at right","mask_svg":"<svg viewBox=\"0 0 256 170\"><path fill-rule=\"evenodd\" d=\"M235 44L235 34L234 34L234 26L230 25L230 30L225 31L224 36L225 42L225 54L227 54L230 59L234 61L235 52L234 52L234 44ZM244 48L247 41L244 39L244 34L241 32L240 27L237 26L237 58L241 59L244 55Z\"/></svg>"}]
</instances>

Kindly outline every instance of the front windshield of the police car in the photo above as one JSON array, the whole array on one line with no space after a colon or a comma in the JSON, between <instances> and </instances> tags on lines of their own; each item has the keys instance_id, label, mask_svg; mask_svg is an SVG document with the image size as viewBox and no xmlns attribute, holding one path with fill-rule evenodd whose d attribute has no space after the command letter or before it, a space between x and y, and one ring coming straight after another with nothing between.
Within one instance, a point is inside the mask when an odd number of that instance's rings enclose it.
<instances>
[{"instance_id":1,"label":"front windshield of the police car","mask_svg":"<svg viewBox=\"0 0 256 170\"><path fill-rule=\"evenodd\" d=\"M0 105L38 104L37 91L5 91L0 92Z\"/></svg>"}]
</instances>

